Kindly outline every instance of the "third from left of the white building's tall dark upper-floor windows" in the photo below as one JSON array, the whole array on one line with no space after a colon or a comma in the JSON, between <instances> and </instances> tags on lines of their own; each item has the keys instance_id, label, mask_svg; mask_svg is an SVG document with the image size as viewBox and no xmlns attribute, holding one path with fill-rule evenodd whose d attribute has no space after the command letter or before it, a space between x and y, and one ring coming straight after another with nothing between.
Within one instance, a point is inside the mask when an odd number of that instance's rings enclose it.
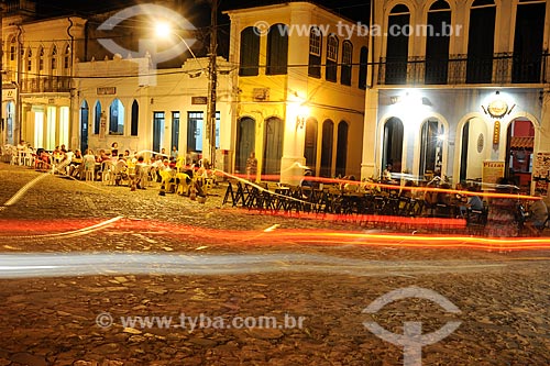
<instances>
[{"instance_id":1,"label":"third from left of the white building's tall dark upper-floor windows","mask_svg":"<svg viewBox=\"0 0 550 366\"><path fill-rule=\"evenodd\" d=\"M466 82L488 84L493 76L496 5L494 0L475 0L470 9Z\"/></svg>"}]
</instances>

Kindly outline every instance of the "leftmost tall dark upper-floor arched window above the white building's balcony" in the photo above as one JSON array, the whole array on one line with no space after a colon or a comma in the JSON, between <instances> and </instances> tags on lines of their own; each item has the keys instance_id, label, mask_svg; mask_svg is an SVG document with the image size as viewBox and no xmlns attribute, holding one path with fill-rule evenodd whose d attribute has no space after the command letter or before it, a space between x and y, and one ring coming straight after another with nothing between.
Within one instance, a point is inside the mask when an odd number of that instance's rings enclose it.
<instances>
[{"instance_id":1,"label":"leftmost tall dark upper-floor arched window above the white building's balcony","mask_svg":"<svg viewBox=\"0 0 550 366\"><path fill-rule=\"evenodd\" d=\"M388 16L388 35L386 44L385 84L396 85L407 82L407 62L409 37L406 32L392 32L409 26L410 11L404 4L395 5ZM366 79L366 77L365 77Z\"/></svg>"}]
</instances>

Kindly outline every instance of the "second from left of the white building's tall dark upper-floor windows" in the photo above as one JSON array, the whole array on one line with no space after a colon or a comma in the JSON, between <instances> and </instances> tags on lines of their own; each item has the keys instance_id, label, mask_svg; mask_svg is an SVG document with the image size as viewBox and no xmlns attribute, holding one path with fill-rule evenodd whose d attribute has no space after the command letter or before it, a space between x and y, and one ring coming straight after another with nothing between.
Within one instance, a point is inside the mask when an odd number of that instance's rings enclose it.
<instances>
[{"instance_id":1,"label":"second from left of the white building's tall dark upper-floor windows","mask_svg":"<svg viewBox=\"0 0 550 366\"><path fill-rule=\"evenodd\" d=\"M433 32L426 38L426 84L448 81L450 26L451 8L444 0L436 1L428 11L428 29Z\"/></svg>"}]
</instances>

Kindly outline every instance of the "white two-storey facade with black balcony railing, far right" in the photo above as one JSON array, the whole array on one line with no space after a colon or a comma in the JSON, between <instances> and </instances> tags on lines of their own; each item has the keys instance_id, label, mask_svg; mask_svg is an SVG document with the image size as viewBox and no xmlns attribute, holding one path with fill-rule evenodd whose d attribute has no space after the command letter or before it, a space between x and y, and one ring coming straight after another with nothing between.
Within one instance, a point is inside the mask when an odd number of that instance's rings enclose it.
<instances>
[{"instance_id":1,"label":"white two-storey facade with black balcony railing, far right","mask_svg":"<svg viewBox=\"0 0 550 366\"><path fill-rule=\"evenodd\" d=\"M374 2L362 177L392 164L457 184L496 165L534 188L550 151L549 19L546 0Z\"/></svg>"}]
</instances>

